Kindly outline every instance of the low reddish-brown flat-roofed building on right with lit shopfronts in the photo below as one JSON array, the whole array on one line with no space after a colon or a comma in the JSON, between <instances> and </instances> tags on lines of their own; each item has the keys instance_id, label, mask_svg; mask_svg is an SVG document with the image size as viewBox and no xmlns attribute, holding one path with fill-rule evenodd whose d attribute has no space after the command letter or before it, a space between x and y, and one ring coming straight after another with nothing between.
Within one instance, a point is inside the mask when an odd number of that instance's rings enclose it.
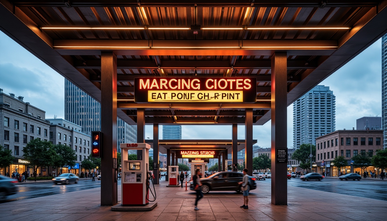
<instances>
[{"instance_id":1,"label":"low reddish-brown flat-roofed building on right with lit shopfronts","mask_svg":"<svg viewBox=\"0 0 387 221\"><path fill-rule=\"evenodd\" d=\"M329 172L330 176L337 176L339 170L332 163L336 156L343 156L348 162L341 172L352 173L361 171L360 168L353 168L353 156L367 154L372 157L376 150L383 148L383 130L336 130L317 137L316 144L316 163L313 167L317 173ZM375 171L375 168L369 166L366 170ZM376 172L379 174L379 171Z\"/></svg>"}]
</instances>

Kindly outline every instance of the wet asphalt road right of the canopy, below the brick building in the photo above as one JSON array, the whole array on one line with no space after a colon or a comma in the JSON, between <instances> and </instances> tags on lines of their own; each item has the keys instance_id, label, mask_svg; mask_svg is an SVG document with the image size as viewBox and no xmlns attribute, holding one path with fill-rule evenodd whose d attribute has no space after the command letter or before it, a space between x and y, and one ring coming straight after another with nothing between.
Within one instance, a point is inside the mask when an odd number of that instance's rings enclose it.
<instances>
[{"instance_id":1,"label":"wet asphalt road right of the canopy, below the brick building","mask_svg":"<svg viewBox=\"0 0 387 221\"><path fill-rule=\"evenodd\" d=\"M271 179L259 180L257 182L264 186L267 185L267 187L270 188L270 180ZM347 181L335 178L324 178L321 181L303 181L300 178L291 178L290 180L288 180L288 188L291 188L292 186L387 201L386 181L367 179Z\"/></svg>"}]
</instances>

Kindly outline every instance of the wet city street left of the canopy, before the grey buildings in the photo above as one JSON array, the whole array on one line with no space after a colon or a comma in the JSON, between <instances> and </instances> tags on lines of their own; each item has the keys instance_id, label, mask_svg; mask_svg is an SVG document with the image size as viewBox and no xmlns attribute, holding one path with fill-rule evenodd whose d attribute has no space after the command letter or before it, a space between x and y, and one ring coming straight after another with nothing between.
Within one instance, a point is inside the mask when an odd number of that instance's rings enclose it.
<instances>
[{"instance_id":1,"label":"wet city street left of the canopy, before the grey buildings","mask_svg":"<svg viewBox=\"0 0 387 221\"><path fill-rule=\"evenodd\" d=\"M118 182L121 184L121 182ZM67 192L74 192L78 190L85 190L91 188L101 187L101 180L95 182L91 181L91 178L85 180L80 179L79 183L70 183L70 184L55 184L52 182L36 182L36 183L23 183L17 184L19 187L19 192L14 195L7 197L7 200L0 201L1 203L12 202L16 200L31 199L35 197L43 197L55 194L63 194Z\"/></svg>"}]
</instances>

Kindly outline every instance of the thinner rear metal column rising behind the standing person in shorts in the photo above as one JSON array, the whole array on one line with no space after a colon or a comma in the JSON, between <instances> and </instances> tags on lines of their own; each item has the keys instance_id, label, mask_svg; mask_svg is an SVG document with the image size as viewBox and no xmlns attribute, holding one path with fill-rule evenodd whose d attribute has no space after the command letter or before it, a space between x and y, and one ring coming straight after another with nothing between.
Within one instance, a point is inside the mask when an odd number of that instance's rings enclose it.
<instances>
[{"instance_id":1,"label":"thinner rear metal column rising behind the standing person in shorts","mask_svg":"<svg viewBox=\"0 0 387 221\"><path fill-rule=\"evenodd\" d=\"M246 109L245 118L245 168L253 175L253 109Z\"/></svg>"}]
</instances>

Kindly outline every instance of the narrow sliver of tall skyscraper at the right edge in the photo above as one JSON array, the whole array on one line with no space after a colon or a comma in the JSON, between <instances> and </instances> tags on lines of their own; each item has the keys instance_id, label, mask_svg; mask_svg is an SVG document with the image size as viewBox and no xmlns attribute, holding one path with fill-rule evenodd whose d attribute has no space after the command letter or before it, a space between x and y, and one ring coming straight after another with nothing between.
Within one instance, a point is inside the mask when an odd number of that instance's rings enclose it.
<instances>
[{"instance_id":1,"label":"narrow sliver of tall skyscraper at the right edge","mask_svg":"<svg viewBox=\"0 0 387 221\"><path fill-rule=\"evenodd\" d=\"M383 148L387 148L387 34L382 37L382 128Z\"/></svg>"}]
</instances>

